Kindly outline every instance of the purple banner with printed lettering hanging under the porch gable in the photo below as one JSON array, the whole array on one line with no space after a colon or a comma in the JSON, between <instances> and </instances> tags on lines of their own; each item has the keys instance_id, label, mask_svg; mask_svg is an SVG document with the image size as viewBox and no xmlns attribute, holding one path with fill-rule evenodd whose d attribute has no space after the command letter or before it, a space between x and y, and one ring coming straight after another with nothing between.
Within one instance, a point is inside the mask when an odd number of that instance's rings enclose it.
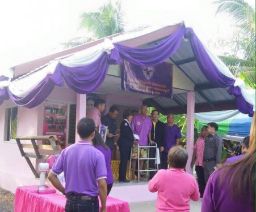
<instances>
[{"instance_id":1,"label":"purple banner with printed lettering hanging under the porch gable","mask_svg":"<svg viewBox=\"0 0 256 212\"><path fill-rule=\"evenodd\" d=\"M121 86L123 90L152 96L173 97L173 64L138 66L123 62Z\"/></svg>"}]
</instances>

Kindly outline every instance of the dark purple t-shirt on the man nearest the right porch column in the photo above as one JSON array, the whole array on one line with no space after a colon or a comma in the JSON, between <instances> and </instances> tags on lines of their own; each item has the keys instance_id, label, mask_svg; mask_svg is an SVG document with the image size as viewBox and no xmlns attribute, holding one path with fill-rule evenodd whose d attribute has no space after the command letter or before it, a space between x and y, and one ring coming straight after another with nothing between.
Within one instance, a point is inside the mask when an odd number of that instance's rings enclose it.
<instances>
[{"instance_id":1,"label":"dark purple t-shirt on the man nearest the right porch column","mask_svg":"<svg viewBox=\"0 0 256 212\"><path fill-rule=\"evenodd\" d=\"M176 139L181 139L181 137L181 130L176 124L173 126L165 124L165 144L163 145L165 149L163 152L168 153L169 150L176 145Z\"/></svg>"}]
</instances>

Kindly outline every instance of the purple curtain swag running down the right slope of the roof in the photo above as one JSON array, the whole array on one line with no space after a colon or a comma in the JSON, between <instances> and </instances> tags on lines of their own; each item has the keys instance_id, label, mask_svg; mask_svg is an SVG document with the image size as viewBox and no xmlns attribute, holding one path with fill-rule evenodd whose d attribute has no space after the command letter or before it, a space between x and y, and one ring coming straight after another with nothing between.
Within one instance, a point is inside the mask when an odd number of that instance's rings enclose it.
<instances>
[{"instance_id":1,"label":"purple curtain swag running down the right slope of the roof","mask_svg":"<svg viewBox=\"0 0 256 212\"><path fill-rule=\"evenodd\" d=\"M223 73L218 70L194 31L190 28L186 28L185 36L190 40L191 48L196 58L196 62L198 63L198 66L203 72L204 76L211 83L221 88L230 86L228 93L230 95L234 95L238 110L243 114L253 115L253 105L250 105L245 101L245 98L241 94L240 88L233 86L235 80L223 75Z\"/></svg>"}]
</instances>

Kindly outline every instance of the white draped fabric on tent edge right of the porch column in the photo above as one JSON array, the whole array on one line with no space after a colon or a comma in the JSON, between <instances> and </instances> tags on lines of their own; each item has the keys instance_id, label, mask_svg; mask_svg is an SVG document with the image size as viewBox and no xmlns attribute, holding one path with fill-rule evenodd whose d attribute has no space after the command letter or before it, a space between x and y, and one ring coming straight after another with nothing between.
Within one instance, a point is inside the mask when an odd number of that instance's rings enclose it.
<instances>
[{"instance_id":1,"label":"white draped fabric on tent edge right of the porch column","mask_svg":"<svg viewBox=\"0 0 256 212\"><path fill-rule=\"evenodd\" d=\"M201 122L222 122L234 115L239 114L238 110L213 111L206 113L195 113L195 118Z\"/></svg>"}]
</instances>

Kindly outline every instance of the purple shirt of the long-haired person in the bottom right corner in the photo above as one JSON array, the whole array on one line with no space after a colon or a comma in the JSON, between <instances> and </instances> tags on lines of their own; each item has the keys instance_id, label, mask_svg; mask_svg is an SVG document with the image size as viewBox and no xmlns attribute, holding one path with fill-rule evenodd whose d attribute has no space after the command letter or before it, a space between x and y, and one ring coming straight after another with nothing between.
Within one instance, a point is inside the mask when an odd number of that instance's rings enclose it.
<instances>
[{"instance_id":1,"label":"purple shirt of the long-haired person in the bottom right corner","mask_svg":"<svg viewBox=\"0 0 256 212\"><path fill-rule=\"evenodd\" d=\"M243 202L240 198L235 198L232 200L229 191L229 181L230 177L226 177L221 186L219 185L220 172L225 171L225 168L220 168L216 170L209 177L207 182L204 198L202 202L202 212L254 212L249 205L249 201ZM249 197L246 198L249 200Z\"/></svg>"}]
</instances>

